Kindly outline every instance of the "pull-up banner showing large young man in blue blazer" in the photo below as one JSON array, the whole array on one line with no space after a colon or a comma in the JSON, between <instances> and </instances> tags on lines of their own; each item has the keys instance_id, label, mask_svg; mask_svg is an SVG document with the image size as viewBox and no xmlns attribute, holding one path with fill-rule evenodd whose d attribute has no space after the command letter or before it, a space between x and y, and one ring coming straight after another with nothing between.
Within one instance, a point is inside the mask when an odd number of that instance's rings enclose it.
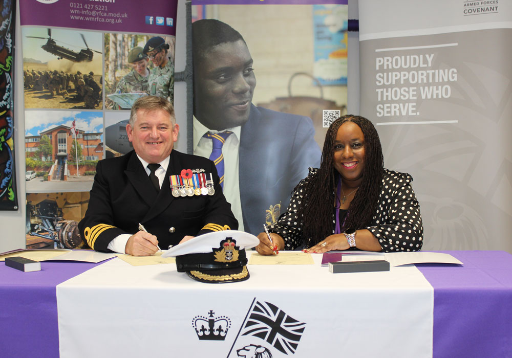
<instances>
[{"instance_id":1,"label":"pull-up banner showing large young man in blue blazer","mask_svg":"<svg viewBox=\"0 0 512 358\"><path fill-rule=\"evenodd\" d=\"M194 0L196 155L222 147L224 195L239 230L258 235L283 214L327 128L346 114L347 0ZM216 162L217 163L217 162Z\"/></svg>"}]
</instances>

